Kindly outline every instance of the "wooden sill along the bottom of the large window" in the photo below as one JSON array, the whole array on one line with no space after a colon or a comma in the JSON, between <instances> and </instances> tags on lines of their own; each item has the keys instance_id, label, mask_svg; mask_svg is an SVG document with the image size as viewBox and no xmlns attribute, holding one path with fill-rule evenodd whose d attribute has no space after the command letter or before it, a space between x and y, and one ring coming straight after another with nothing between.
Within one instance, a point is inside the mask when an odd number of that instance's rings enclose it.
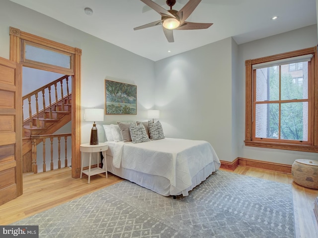
<instances>
[{"instance_id":1,"label":"wooden sill along the bottom of the large window","mask_svg":"<svg viewBox=\"0 0 318 238\"><path fill-rule=\"evenodd\" d=\"M318 146L313 146L313 145L295 145L295 144L259 142L259 141L249 141L249 140L244 140L244 142L245 142L245 146L318 153Z\"/></svg>"}]
</instances>

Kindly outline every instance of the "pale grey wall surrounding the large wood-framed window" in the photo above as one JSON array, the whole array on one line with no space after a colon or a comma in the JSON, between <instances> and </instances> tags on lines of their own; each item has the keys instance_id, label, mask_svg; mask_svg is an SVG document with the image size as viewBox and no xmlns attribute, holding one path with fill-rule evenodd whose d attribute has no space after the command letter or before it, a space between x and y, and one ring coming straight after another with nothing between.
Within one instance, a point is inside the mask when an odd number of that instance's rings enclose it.
<instances>
[{"instance_id":1,"label":"pale grey wall surrounding the large wood-framed window","mask_svg":"<svg viewBox=\"0 0 318 238\"><path fill-rule=\"evenodd\" d=\"M239 157L291 165L296 159L316 159L317 153L244 146L245 138L245 60L314 47L318 44L317 25L312 25L239 45L238 137Z\"/></svg>"}]
</instances>

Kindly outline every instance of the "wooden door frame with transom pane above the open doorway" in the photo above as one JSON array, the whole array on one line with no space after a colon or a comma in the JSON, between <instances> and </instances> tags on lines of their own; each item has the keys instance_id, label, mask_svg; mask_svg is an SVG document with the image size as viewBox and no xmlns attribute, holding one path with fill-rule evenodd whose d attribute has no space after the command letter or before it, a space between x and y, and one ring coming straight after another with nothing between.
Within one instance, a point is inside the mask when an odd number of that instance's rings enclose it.
<instances>
[{"instance_id":1,"label":"wooden door frame with transom pane above the open doorway","mask_svg":"<svg viewBox=\"0 0 318 238\"><path fill-rule=\"evenodd\" d=\"M10 60L21 63L22 66L62 73L72 76L72 178L80 176L80 58L81 50L35 36L17 28L10 27ZM26 53L34 50L39 54L43 51L49 54L59 54L62 58L69 58L69 65L54 65L50 62L38 60ZM36 55L36 54L35 54ZM22 108L21 108L22 111Z\"/></svg>"}]
</instances>

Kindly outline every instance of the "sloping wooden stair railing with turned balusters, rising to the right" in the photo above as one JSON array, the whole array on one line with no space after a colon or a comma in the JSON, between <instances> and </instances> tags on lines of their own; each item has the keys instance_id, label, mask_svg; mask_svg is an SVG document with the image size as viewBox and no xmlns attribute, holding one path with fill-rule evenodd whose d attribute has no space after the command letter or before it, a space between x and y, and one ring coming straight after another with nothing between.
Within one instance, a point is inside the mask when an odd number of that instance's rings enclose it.
<instances>
[{"instance_id":1,"label":"sloping wooden stair railing with turned balusters, rising to the right","mask_svg":"<svg viewBox=\"0 0 318 238\"><path fill-rule=\"evenodd\" d=\"M34 124L32 121L32 118L35 117L36 118L36 127L39 128L39 115L40 113L43 113L43 117L44 119L53 119L53 114L52 114L52 107L53 105L57 105L59 100L61 99L69 99L70 98L70 90L69 90L69 75L64 75L36 90L34 90L31 93L28 93L27 95L22 97L22 119L23 121L27 121L29 120L29 126L30 128L33 128ZM60 88L58 87L58 84L60 84ZM66 94L63 93L63 85L66 84ZM55 92L55 102L52 103L52 95L51 95L51 87L54 86L54 92ZM49 98L49 104L46 105L45 102L45 98L46 98L46 94L45 92L48 92L48 98ZM38 102L38 97L39 97L39 93L42 93L42 101L43 101L43 109L39 111L39 102ZM33 100L32 100L33 99ZM24 115L23 115L23 104L24 101L27 100L28 101L28 105L29 105L29 117L27 119L24 119ZM34 108L35 104L35 113L32 112L32 107ZM64 111L65 109L65 103L64 100L62 100L62 111ZM46 110L49 110L48 113L48 117L46 115ZM59 108L56 107L55 111L59 111ZM23 122L22 121L22 122Z\"/></svg>"}]
</instances>

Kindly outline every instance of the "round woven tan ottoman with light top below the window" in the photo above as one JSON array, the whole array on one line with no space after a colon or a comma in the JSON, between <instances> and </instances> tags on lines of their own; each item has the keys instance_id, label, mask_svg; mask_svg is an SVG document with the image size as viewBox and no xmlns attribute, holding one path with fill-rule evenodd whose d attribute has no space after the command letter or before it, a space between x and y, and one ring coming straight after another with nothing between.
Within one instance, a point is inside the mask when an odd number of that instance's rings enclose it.
<instances>
[{"instance_id":1,"label":"round woven tan ottoman with light top below the window","mask_svg":"<svg viewBox=\"0 0 318 238\"><path fill-rule=\"evenodd\" d=\"M292 165L292 175L297 184L318 189L318 161L295 160Z\"/></svg>"}]
</instances>

